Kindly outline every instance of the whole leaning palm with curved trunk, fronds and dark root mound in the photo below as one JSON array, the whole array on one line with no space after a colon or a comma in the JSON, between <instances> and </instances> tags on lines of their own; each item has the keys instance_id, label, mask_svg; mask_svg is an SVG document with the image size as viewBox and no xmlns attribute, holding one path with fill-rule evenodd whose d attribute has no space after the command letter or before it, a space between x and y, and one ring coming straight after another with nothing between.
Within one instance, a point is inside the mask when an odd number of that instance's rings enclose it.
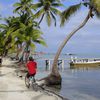
<instances>
[{"instance_id":1,"label":"whole leaning palm with curved trunk, fronds and dark root mound","mask_svg":"<svg viewBox=\"0 0 100 100\"><path fill-rule=\"evenodd\" d=\"M69 41L69 39L78 31L80 30L87 22L90 18L93 18L93 15L96 14L98 17L100 15L100 9L98 9L98 6L96 5L95 1L98 1L100 4L100 0L94 0L94 3L92 2L92 0L90 0L89 2L85 2L83 3L86 7L89 7L89 12L88 15L86 16L86 18L83 20L83 22L77 27L75 28L71 33L69 33L68 36L66 36L66 38L64 39L64 41L61 43L60 47L58 48L58 51L54 57L54 61L52 64L52 71L49 74L48 77L43 78L41 80L44 80L44 84L61 84L61 75L59 74L58 68L57 68L57 61L58 58L61 54L62 49L64 48L64 46L66 45L66 43ZM95 6L94 6L95 4ZM73 5L70 6L68 9L66 9L64 12L62 12L62 20L61 20L61 24L64 25L65 21L69 19L69 17L74 14L76 11L78 11L78 9L81 7L81 4L77 4L77 5Z\"/></svg>"}]
</instances>

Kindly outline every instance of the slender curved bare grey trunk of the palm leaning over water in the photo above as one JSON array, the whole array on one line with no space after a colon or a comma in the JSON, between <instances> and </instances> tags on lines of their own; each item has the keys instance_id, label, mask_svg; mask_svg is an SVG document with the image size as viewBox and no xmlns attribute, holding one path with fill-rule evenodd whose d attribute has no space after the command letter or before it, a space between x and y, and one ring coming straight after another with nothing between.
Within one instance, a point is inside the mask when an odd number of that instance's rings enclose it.
<instances>
[{"instance_id":1,"label":"slender curved bare grey trunk of the palm leaning over water","mask_svg":"<svg viewBox=\"0 0 100 100\"><path fill-rule=\"evenodd\" d=\"M85 18L85 20L77 27L75 28L71 33L69 33L68 36L66 36L66 38L64 39L64 41L61 43L60 47L58 48L58 51L55 55L55 58L54 58L54 61L53 61L53 65L52 65L52 72L51 74L54 74L56 76L59 76L59 71L58 71L58 68L57 68L57 61L58 61L58 58L59 58L59 55L62 51L62 49L64 48L64 46L66 45L66 43L69 41L69 39L78 31L80 30L86 23L87 21L89 20L89 18L91 17L92 15L92 9L89 10L88 12L88 15L87 17Z\"/></svg>"}]
</instances>

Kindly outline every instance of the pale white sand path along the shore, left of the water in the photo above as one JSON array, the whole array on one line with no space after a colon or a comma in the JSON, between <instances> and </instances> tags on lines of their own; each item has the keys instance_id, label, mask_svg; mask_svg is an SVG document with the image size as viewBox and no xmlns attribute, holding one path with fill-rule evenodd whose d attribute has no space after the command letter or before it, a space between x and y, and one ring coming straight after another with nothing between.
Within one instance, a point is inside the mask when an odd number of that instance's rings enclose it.
<instances>
[{"instance_id":1,"label":"pale white sand path along the shore, left of the water","mask_svg":"<svg viewBox=\"0 0 100 100\"><path fill-rule=\"evenodd\" d=\"M27 89L24 81L15 75L15 69L6 67L13 63L4 59L2 64L5 66L0 67L0 100L61 100L53 94Z\"/></svg>"}]
</instances>

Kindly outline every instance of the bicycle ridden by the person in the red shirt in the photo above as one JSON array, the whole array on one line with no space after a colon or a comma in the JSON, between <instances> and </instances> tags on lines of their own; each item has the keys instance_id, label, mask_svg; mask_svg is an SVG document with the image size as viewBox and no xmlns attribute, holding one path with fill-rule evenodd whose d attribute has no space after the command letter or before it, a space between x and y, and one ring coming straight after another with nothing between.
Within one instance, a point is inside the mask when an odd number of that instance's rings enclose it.
<instances>
[{"instance_id":1,"label":"bicycle ridden by the person in the red shirt","mask_svg":"<svg viewBox=\"0 0 100 100\"><path fill-rule=\"evenodd\" d=\"M27 78L27 74L26 74L25 85L27 88L30 88L32 86L34 91L38 91L38 84L36 83L34 76L30 76L29 78Z\"/></svg>"}]
</instances>

